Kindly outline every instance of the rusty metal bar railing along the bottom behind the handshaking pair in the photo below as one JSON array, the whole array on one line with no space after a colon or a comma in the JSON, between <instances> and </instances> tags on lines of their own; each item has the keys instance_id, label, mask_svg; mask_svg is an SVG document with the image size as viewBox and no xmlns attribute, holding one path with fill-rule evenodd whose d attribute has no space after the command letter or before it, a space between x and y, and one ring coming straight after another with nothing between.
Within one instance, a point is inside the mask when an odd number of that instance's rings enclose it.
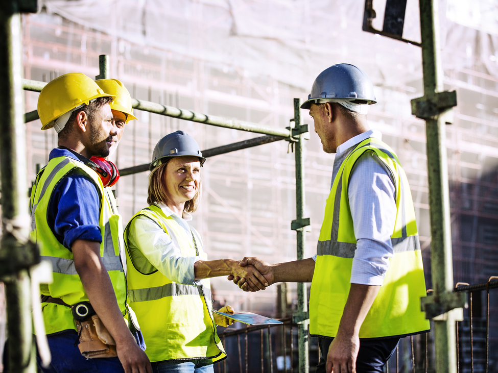
<instances>
[{"instance_id":1,"label":"rusty metal bar railing along the bottom behind the handshaking pair","mask_svg":"<svg viewBox=\"0 0 498 373\"><path fill-rule=\"evenodd\" d=\"M457 351L457 372L460 373L488 373L489 371L489 331L490 331L490 296L491 289L498 288L498 277L492 276L486 283L469 285L457 283L454 292L466 292L469 299L469 309L465 312L463 321L458 321L455 327L456 351ZM472 293L485 291L485 318L472 315ZM428 295L433 293L428 290ZM215 373L296 373L301 371L297 362L297 351L295 345L298 342L297 327L291 317L282 318L283 324L269 324L258 326L246 326L241 329L226 328L219 333L220 338L227 351L228 358L215 364ZM474 346L480 341L476 341L473 333L476 323L484 324L485 337L485 358L484 364L476 364ZM463 333L462 331L469 331ZM479 337L479 338L482 338ZM308 334L309 346L309 370L315 371L315 366L320 358L317 338ZM387 373L401 372L435 372L435 346L434 330L417 336L401 338L393 356L385 367ZM467 350L463 345L469 346ZM498 347L498 342L496 342ZM496 351L496 348L494 349Z\"/></svg>"}]
</instances>

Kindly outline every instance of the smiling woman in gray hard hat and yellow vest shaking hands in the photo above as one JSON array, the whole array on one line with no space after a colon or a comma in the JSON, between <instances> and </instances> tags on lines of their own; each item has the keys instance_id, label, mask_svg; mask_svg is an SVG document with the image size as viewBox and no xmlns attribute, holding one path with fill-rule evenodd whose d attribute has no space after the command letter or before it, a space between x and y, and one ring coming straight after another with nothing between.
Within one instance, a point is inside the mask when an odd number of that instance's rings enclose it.
<instances>
[{"instance_id":1,"label":"smiling woman in gray hard hat and yellow vest shaking hands","mask_svg":"<svg viewBox=\"0 0 498 373\"><path fill-rule=\"evenodd\" d=\"M159 372L212 372L212 364L226 358L216 325L233 321L212 314L208 278L240 276L254 291L265 288L265 278L252 266L206 260L199 234L188 225L199 204L205 160L185 132L163 137L150 165L150 206L137 212L125 229L128 302Z\"/></svg>"}]
</instances>

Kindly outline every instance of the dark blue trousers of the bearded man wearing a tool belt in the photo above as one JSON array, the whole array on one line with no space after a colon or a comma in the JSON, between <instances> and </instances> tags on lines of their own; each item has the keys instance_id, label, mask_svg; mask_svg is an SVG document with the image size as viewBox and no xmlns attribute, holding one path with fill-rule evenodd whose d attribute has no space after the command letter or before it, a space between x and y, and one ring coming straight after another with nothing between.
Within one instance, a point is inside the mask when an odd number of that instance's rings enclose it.
<instances>
[{"instance_id":1,"label":"dark blue trousers of the bearded man wearing a tool belt","mask_svg":"<svg viewBox=\"0 0 498 373\"><path fill-rule=\"evenodd\" d=\"M80 353L75 341L78 333L75 330L66 330L61 333L47 336L49 340L52 362L48 368L41 367L41 361L37 358L39 367L44 373L124 373L120 360L115 358L87 359Z\"/></svg>"}]
</instances>

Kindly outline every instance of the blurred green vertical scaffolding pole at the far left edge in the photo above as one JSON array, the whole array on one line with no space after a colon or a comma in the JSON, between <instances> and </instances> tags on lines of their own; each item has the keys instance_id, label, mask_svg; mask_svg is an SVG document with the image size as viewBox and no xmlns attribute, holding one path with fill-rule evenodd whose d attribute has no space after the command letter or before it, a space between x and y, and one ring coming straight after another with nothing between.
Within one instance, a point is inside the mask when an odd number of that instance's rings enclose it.
<instances>
[{"instance_id":1,"label":"blurred green vertical scaffolding pole at the far left edge","mask_svg":"<svg viewBox=\"0 0 498 373\"><path fill-rule=\"evenodd\" d=\"M35 2L36 11L36 2ZM6 287L10 372L36 372L28 266L21 254L28 238L26 138L22 117L21 16L18 2L0 1L0 165L2 240L0 272ZM9 275L8 275L9 273Z\"/></svg>"}]
</instances>

